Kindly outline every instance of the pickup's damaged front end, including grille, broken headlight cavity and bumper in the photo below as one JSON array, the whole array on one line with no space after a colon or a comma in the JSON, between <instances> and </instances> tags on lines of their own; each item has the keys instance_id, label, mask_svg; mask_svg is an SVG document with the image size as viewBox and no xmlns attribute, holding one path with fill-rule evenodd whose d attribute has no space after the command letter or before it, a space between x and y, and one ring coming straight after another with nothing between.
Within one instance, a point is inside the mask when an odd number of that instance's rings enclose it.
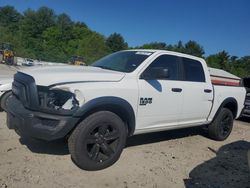
<instances>
[{"instance_id":1,"label":"pickup's damaged front end, including grille, broken headlight cavity and bumper","mask_svg":"<svg viewBox=\"0 0 250 188\"><path fill-rule=\"evenodd\" d=\"M74 114L83 103L77 89L36 85L32 76L18 72L6 99L7 126L22 136L48 141L64 138L79 121Z\"/></svg>"}]
</instances>

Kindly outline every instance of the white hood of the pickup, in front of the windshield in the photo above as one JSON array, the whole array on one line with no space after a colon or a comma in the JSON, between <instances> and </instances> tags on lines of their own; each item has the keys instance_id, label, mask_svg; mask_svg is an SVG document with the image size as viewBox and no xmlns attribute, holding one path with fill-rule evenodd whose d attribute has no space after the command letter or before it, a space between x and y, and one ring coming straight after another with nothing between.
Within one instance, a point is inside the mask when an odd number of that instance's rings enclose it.
<instances>
[{"instance_id":1,"label":"white hood of the pickup, in front of the windshield","mask_svg":"<svg viewBox=\"0 0 250 188\"><path fill-rule=\"evenodd\" d=\"M73 82L118 82L125 73L91 66L46 66L19 70L32 76L37 85L56 85Z\"/></svg>"}]
</instances>

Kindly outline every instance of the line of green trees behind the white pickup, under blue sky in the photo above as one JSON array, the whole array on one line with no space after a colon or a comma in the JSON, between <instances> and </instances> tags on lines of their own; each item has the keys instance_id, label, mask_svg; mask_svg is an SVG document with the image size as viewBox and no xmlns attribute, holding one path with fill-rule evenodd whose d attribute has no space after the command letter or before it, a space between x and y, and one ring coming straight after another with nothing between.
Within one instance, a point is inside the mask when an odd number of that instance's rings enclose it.
<instances>
[{"instance_id":1,"label":"line of green trees behind the white pickup, under blue sky","mask_svg":"<svg viewBox=\"0 0 250 188\"><path fill-rule=\"evenodd\" d=\"M17 56L65 63L77 55L91 64L109 53L132 48L119 33L105 37L84 22L72 21L65 13L57 15L48 7L27 9L23 13L12 6L0 7L0 42L13 44ZM205 57L204 48L192 40L177 44L152 42L135 48L182 52L205 58L210 67L240 77L250 76L250 55L238 58L221 51Z\"/></svg>"}]
</instances>

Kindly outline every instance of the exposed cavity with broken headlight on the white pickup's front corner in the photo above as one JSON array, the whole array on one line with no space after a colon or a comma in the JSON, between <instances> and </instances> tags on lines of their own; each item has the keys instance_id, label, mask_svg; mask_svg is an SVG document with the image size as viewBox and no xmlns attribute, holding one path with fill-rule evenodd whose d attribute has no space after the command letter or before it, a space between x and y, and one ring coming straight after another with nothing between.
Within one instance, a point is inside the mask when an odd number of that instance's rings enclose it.
<instances>
[{"instance_id":1,"label":"exposed cavity with broken headlight on the white pickup's front corner","mask_svg":"<svg viewBox=\"0 0 250 188\"><path fill-rule=\"evenodd\" d=\"M84 97L79 90L70 91L67 87L48 88L38 86L41 108L53 110L75 110L84 103Z\"/></svg>"}]
</instances>

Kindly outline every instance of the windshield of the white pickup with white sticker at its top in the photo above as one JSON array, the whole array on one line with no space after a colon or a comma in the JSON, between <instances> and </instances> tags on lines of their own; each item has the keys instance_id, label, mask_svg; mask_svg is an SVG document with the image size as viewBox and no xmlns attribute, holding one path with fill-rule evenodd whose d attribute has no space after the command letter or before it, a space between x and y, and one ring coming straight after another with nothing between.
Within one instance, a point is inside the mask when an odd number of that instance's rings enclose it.
<instances>
[{"instance_id":1,"label":"windshield of the white pickup with white sticker at its top","mask_svg":"<svg viewBox=\"0 0 250 188\"><path fill-rule=\"evenodd\" d=\"M121 51L96 61L91 66L120 72L133 72L152 53L144 51Z\"/></svg>"}]
</instances>

